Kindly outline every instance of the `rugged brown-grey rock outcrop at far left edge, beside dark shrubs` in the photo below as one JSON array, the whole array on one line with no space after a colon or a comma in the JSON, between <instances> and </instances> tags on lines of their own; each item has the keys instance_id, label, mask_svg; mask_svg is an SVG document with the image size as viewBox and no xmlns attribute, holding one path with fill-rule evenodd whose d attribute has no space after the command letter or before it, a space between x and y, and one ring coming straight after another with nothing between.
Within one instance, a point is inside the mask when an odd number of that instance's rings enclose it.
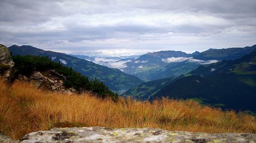
<instances>
[{"instance_id":1,"label":"rugged brown-grey rock outcrop at far left edge, beside dark shrubs","mask_svg":"<svg viewBox=\"0 0 256 143\"><path fill-rule=\"evenodd\" d=\"M7 80L13 66L11 52L5 45L0 44L0 77Z\"/></svg>"}]
</instances>

